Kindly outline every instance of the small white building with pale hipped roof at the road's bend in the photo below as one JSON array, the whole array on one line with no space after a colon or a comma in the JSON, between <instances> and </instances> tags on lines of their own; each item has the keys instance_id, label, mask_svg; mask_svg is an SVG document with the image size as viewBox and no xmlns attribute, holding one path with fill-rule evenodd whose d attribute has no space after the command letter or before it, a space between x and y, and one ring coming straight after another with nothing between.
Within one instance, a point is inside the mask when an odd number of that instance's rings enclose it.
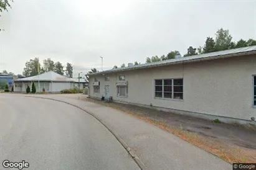
<instances>
[{"instance_id":1,"label":"small white building with pale hipped roof at the road's bend","mask_svg":"<svg viewBox=\"0 0 256 170\"><path fill-rule=\"evenodd\" d=\"M37 92L42 92L43 88L46 92L60 92L63 89L73 88L75 84L72 78L49 71L37 76L14 80L14 92L26 92L27 86L32 87L32 82L35 83Z\"/></svg>"}]
</instances>

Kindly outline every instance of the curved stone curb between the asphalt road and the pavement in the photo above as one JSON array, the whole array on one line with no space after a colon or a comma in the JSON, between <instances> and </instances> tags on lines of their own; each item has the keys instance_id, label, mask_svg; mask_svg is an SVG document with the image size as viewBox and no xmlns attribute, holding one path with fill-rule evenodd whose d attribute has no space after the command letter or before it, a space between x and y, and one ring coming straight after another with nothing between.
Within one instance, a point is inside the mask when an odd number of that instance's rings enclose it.
<instances>
[{"instance_id":1,"label":"curved stone curb between the asphalt road and the pavement","mask_svg":"<svg viewBox=\"0 0 256 170\"><path fill-rule=\"evenodd\" d=\"M82 109L81 107L74 105L74 104L70 104L69 102L65 102L65 101L60 101L57 99L50 99L50 98L45 98L45 97L35 97L35 96L24 96L24 97L32 97L32 98L37 98L37 99L48 99L48 100L52 100L52 101L57 101L57 102L62 102L65 104L69 104L72 105L73 107L77 107L80 110L83 110L83 112L86 112L89 115L92 115L92 117L94 117L95 119L98 120L98 122L102 123L102 125L104 127L107 128L107 130L112 133L113 136L115 136L115 138L119 141L119 143L123 146L123 148L125 148L125 150L130 154L131 158L133 158L133 160L135 161L136 164L138 164L138 166L140 167L140 169L142 170L146 170L145 164L143 164L143 162L141 161L140 158L138 158L138 156L136 156L135 152L133 150L131 150L131 148L125 143L125 141L123 141L120 136L118 136L115 132L113 132L113 130L111 130L111 128L107 127L106 123L104 123L99 117L97 117L96 115L92 114L91 112L88 112L85 109Z\"/></svg>"}]
</instances>

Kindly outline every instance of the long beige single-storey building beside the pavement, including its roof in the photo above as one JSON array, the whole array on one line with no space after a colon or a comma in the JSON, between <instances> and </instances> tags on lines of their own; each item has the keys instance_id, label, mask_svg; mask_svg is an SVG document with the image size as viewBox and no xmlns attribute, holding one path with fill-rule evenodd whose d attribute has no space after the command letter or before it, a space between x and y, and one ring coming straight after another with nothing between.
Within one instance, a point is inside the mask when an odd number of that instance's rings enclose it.
<instances>
[{"instance_id":1,"label":"long beige single-storey building beside the pavement, including its roof","mask_svg":"<svg viewBox=\"0 0 256 170\"><path fill-rule=\"evenodd\" d=\"M256 46L88 74L90 97L223 122L255 123Z\"/></svg>"}]
</instances>

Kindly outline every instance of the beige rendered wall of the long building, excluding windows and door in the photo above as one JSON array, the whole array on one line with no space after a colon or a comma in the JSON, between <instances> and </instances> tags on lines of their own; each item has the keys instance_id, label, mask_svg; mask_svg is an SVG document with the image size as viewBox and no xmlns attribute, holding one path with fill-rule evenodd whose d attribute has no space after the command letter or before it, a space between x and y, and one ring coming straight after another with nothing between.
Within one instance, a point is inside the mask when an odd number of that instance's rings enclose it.
<instances>
[{"instance_id":1,"label":"beige rendered wall of the long building, excluding windows and door","mask_svg":"<svg viewBox=\"0 0 256 170\"><path fill-rule=\"evenodd\" d=\"M115 83L120 74L125 74L128 81L128 97L116 96ZM93 94L94 77L91 76L90 96L100 97L104 94L104 86L109 85L110 96L117 101L250 120L256 117L256 108L252 107L253 74L256 74L255 56L137 69L107 74L110 81L98 75L99 94ZM183 78L183 101L154 99L154 79L162 78Z\"/></svg>"}]
</instances>

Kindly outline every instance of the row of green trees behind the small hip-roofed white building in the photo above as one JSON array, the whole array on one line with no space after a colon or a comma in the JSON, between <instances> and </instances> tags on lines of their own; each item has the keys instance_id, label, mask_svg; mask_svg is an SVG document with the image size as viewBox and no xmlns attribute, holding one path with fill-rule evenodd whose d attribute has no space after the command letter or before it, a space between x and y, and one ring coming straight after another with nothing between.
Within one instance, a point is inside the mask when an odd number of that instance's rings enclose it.
<instances>
[{"instance_id":1,"label":"row of green trees behind the small hip-roofed white building","mask_svg":"<svg viewBox=\"0 0 256 170\"><path fill-rule=\"evenodd\" d=\"M39 58L34 58L25 63L24 76L36 76L38 74L54 71L60 75L66 75L69 78L73 78L73 66L71 63L67 63L64 69L64 65L59 61L54 62L50 58L43 61L42 65L39 62Z\"/></svg>"}]
</instances>

